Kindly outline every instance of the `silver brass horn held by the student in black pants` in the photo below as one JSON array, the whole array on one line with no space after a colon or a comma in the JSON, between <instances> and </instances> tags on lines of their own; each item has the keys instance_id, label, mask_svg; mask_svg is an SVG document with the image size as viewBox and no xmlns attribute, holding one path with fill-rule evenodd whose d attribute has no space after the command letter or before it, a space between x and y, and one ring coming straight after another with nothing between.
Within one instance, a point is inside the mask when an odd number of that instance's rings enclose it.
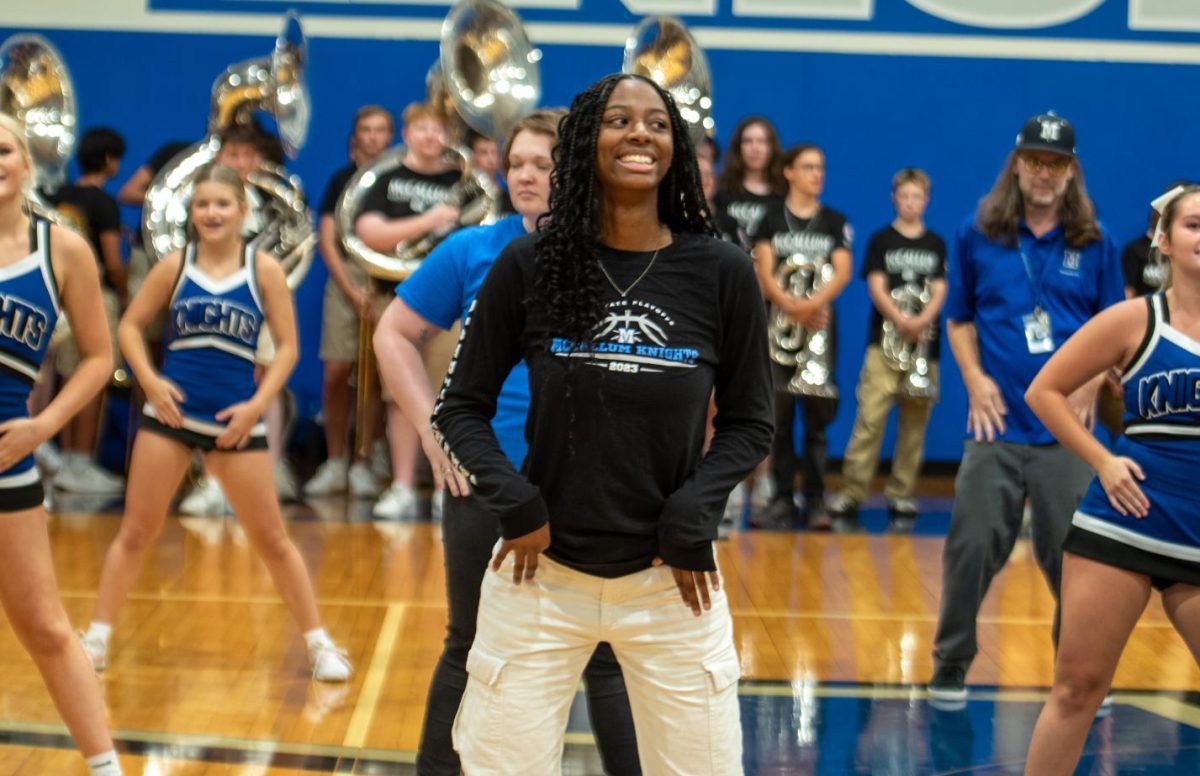
<instances>
[{"instance_id":1,"label":"silver brass horn held by the student in black pants","mask_svg":"<svg viewBox=\"0 0 1200 776\"><path fill-rule=\"evenodd\" d=\"M833 279L834 267L824 257L793 253L775 270L775 282L792 296L810 297ZM772 305L767 321L770 359L785 367L796 367L787 381L787 392L797 396L838 398L832 380L829 326L805 329L782 308Z\"/></svg>"}]
</instances>

